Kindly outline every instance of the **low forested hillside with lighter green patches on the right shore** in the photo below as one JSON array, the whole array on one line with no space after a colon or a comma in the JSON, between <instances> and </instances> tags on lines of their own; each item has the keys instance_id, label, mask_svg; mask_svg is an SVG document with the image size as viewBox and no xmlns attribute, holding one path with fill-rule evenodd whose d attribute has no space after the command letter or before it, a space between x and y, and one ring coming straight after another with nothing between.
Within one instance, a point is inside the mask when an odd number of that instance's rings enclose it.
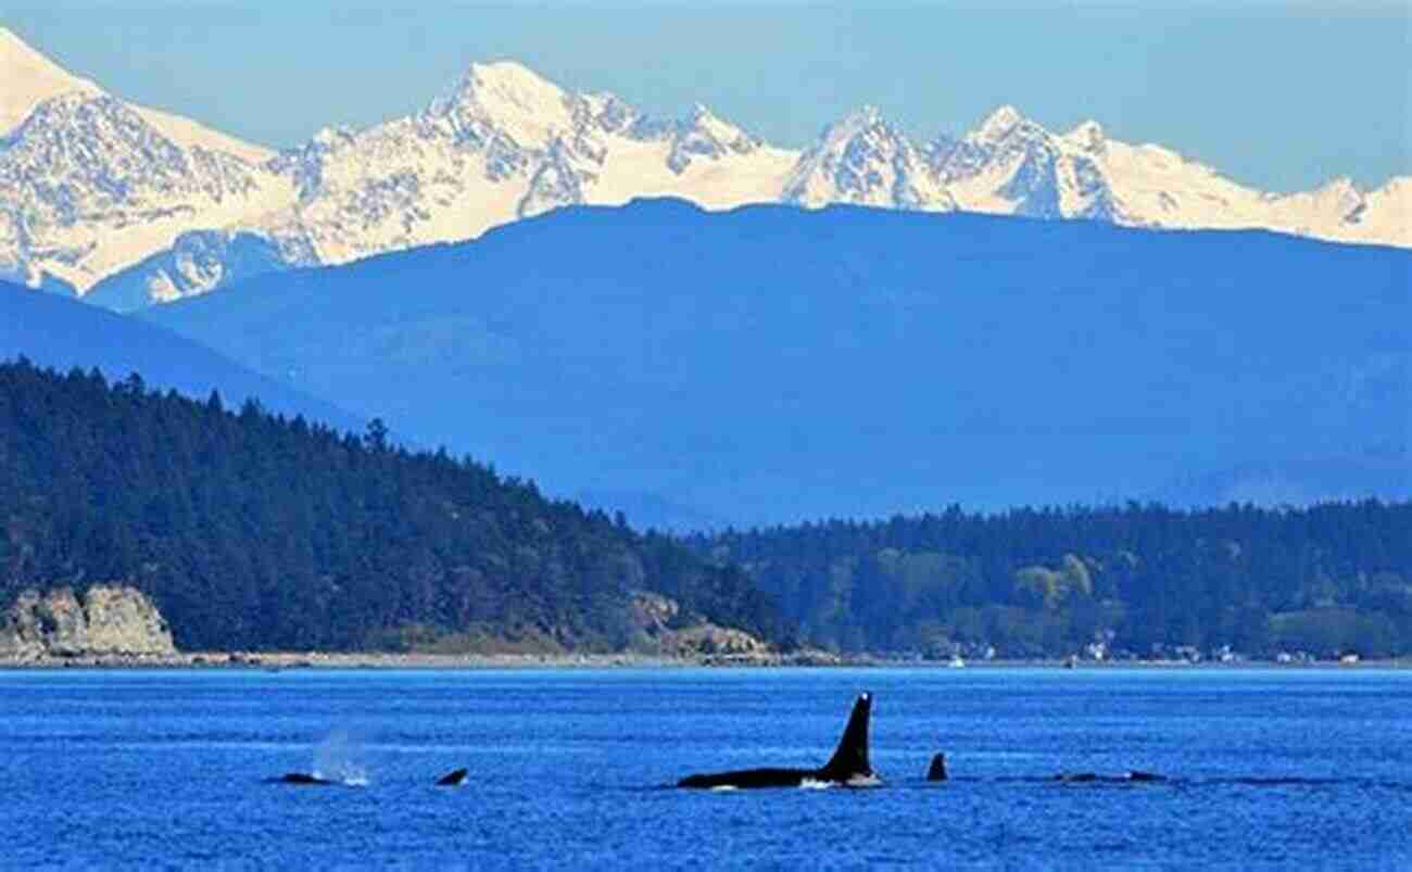
<instances>
[{"instance_id":1,"label":"low forested hillside with lighter green patches on the right shore","mask_svg":"<svg viewBox=\"0 0 1412 872\"><path fill-rule=\"evenodd\" d=\"M692 542L850 652L1412 653L1412 502L953 508Z\"/></svg>"}]
</instances>

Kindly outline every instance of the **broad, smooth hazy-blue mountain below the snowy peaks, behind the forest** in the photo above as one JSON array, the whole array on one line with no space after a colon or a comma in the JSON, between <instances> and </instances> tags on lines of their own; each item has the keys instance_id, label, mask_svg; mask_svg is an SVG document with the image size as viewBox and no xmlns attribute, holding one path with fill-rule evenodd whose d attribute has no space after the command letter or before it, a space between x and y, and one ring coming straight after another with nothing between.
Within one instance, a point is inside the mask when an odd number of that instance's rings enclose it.
<instances>
[{"instance_id":1,"label":"broad, smooth hazy-blue mountain below the snowy peaks, behind the forest","mask_svg":"<svg viewBox=\"0 0 1412 872\"><path fill-rule=\"evenodd\" d=\"M1405 495L1409 265L1268 231L637 200L144 317L548 492L753 525L1199 502L1365 449L1391 473L1356 490Z\"/></svg>"}]
</instances>

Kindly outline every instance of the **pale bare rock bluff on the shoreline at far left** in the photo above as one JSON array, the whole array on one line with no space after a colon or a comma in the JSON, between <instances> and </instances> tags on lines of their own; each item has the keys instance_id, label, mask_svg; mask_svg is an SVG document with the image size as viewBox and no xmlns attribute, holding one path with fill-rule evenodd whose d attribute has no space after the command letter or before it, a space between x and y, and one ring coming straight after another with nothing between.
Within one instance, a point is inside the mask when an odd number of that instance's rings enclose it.
<instances>
[{"instance_id":1,"label":"pale bare rock bluff on the shoreline at far left","mask_svg":"<svg viewBox=\"0 0 1412 872\"><path fill-rule=\"evenodd\" d=\"M171 656L171 628L131 587L95 586L23 591L0 614L0 658Z\"/></svg>"}]
</instances>

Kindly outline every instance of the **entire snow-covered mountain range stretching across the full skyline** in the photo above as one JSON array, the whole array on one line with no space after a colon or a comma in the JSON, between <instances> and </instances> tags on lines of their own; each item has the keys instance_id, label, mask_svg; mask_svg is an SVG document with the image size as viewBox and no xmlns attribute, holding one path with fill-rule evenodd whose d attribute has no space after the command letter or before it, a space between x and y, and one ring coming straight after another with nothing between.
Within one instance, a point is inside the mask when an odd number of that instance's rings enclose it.
<instances>
[{"instance_id":1,"label":"entire snow-covered mountain range stretching across the full skyline","mask_svg":"<svg viewBox=\"0 0 1412 872\"><path fill-rule=\"evenodd\" d=\"M866 107L796 151L705 106L651 119L500 61L473 63L419 113L325 128L271 154L123 103L3 28L0 82L0 278L78 293L102 281L93 301L114 308L472 238L559 206L658 196L705 209L857 203L1264 227L1412 247L1409 178L1271 195L1171 150L1111 140L1097 121L1051 133L1012 106L923 144Z\"/></svg>"}]
</instances>

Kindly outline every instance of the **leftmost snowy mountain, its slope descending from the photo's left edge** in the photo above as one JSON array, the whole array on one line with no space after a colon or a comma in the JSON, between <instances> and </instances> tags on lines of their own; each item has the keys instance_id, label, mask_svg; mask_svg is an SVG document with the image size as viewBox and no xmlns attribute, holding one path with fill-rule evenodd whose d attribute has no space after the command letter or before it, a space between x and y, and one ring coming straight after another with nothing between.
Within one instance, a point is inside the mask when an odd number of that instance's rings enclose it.
<instances>
[{"instance_id":1,"label":"leftmost snowy mountain, its slope descending from the photo's left edge","mask_svg":"<svg viewBox=\"0 0 1412 872\"><path fill-rule=\"evenodd\" d=\"M130 106L0 30L0 275L78 292L172 244L288 199L268 152ZM10 87L14 82L16 87Z\"/></svg>"}]
</instances>

